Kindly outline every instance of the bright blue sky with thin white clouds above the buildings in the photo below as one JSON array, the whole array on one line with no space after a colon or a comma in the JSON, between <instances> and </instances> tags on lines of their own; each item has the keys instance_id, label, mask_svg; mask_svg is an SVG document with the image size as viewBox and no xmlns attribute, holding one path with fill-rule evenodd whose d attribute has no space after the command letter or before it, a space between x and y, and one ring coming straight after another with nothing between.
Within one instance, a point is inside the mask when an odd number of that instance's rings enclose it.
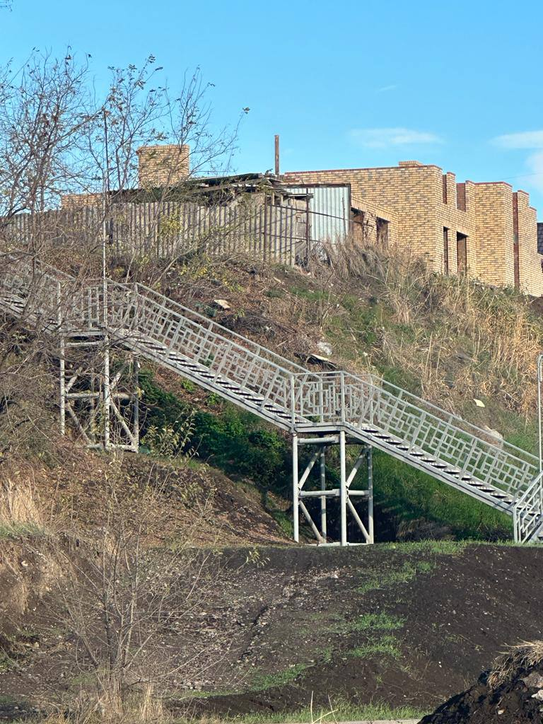
<instances>
[{"instance_id":1,"label":"bright blue sky with thin white clouds above the buildings","mask_svg":"<svg viewBox=\"0 0 543 724\"><path fill-rule=\"evenodd\" d=\"M217 125L244 106L237 171L419 159L508 180L543 219L543 3L12 0L0 63L33 47L107 66L152 53L169 84L199 65Z\"/></svg>"}]
</instances>

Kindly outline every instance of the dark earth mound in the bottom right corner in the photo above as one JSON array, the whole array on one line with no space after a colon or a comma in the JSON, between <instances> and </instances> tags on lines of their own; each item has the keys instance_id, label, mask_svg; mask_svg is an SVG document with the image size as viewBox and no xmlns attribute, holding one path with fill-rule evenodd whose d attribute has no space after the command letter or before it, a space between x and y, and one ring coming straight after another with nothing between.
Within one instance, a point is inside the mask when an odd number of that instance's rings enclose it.
<instances>
[{"instance_id":1,"label":"dark earth mound in the bottom right corner","mask_svg":"<svg viewBox=\"0 0 543 724\"><path fill-rule=\"evenodd\" d=\"M543 720L543 644L518 649L421 724L528 724ZM535 662L534 662L535 659ZM539 661L538 661L539 659Z\"/></svg>"}]
</instances>

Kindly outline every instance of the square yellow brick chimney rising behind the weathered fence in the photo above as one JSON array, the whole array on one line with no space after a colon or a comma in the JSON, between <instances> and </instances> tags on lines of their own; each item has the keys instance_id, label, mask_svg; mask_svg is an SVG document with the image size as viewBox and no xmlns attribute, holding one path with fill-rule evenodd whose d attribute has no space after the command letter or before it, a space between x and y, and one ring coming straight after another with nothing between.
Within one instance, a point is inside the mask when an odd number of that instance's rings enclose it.
<instances>
[{"instance_id":1,"label":"square yellow brick chimney rising behind the weathered fence","mask_svg":"<svg viewBox=\"0 0 543 724\"><path fill-rule=\"evenodd\" d=\"M140 188L176 186L190 173L189 146L142 146L137 153Z\"/></svg>"}]
</instances>

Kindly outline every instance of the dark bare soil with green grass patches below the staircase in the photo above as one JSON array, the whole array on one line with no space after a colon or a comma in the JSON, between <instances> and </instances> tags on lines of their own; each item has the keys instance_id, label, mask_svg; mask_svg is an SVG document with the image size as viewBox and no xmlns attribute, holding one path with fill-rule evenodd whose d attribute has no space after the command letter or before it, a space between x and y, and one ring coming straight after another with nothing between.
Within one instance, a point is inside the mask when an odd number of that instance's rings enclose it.
<instances>
[{"instance_id":1,"label":"dark bare soil with green grass patches below the staircase","mask_svg":"<svg viewBox=\"0 0 543 724\"><path fill-rule=\"evenodd\" d=\"M221 558L221 583L192 624L209 637L216 665L183 683L200 691L198 712L295 711L311 694L316 705L331 697L430 711L504 647L543 636L543 550L444 542L242 548ZM69 633L44 627L44 612L59 602L54 588L39 585L39 556L14 546L10 560L0 572L3 600L17 561L31 591L10 617L17 668L0 674L0 696L18 705L77 677ZM225 626L233 626L227 645ZM169 705L177 710L180 698Z\"/></svg>"}]
</instances>

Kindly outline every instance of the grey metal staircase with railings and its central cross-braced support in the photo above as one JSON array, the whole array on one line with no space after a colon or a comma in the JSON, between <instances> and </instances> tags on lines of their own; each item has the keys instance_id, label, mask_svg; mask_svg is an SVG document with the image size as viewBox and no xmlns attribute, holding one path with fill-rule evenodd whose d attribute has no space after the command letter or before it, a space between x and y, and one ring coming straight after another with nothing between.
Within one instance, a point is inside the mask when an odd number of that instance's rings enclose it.
<instances>
[{"instance_id":1,"label":"grey metal staircase with railings and its central cross-braced support","mask_svg":"<svg viewBox=\"0 0 543 724\"><path fill-rule=\"evenodd\" d=\"M298 511L319 542L327 541L326 505L340 501L340 544L348 513L373 542L371 449L428 473L513 516L517 542L543 539L543 477L534 455L492 442L489 434L393 384L344 371L315 373L139 284L80 281L25 255L0 271L0 307L28 326L59 337L106 335L109 345L159 363L206 390L292 433L294 533ZM348 474L345 446L363 452ZM316 446L300 475L298 445ZM340 487L327 489L324 451L340 447ZM368 461L368 487L351 487ZM321 487L306 485L321 461ZM305 487L304 487L305 486ZM316 526L307 499L321 502ZM354 502L365 500L364 524ZM354 501L354 502L353 502Z\"/></svg>"}]
</instances>

